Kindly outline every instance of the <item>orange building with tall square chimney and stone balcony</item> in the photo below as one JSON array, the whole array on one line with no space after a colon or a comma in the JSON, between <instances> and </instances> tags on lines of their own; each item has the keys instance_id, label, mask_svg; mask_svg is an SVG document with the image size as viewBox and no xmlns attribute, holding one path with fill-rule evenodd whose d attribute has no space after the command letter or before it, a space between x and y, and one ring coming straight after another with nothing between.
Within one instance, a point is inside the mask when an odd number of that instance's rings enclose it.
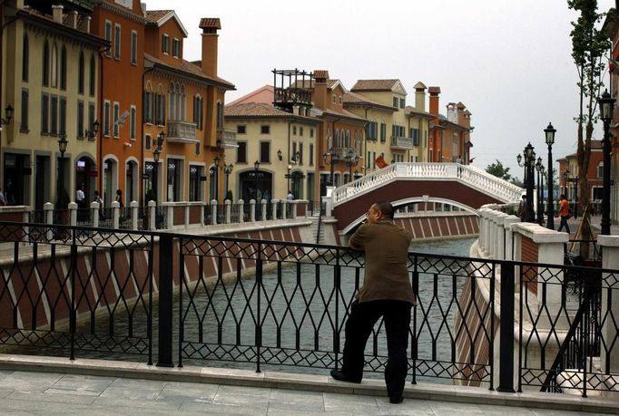
<instances>
[{"instance_id":1,"label":"orange building with tall square chimney and stone balcony","mask_svg":"<svg viewBox=\"0 0 619 416\"><path fill-rule=\"evenodd\" d=\"M202 59L188 62L178 16L163 10L145 17L144 188L157 201L223 200L223 169L232 161L226 150L236 148L236 132L223 128L224 94L234 85L217 74L220 20L201 19Z\"/></svg>"}]
</instances>

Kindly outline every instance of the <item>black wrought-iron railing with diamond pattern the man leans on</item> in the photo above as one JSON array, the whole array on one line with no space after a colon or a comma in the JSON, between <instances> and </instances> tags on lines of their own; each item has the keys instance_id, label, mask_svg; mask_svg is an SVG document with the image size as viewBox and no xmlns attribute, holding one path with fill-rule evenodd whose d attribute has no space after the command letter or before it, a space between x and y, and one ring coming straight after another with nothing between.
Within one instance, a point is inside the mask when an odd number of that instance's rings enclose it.
<instances>
[{"instance_id":1,"label":"black wrought-iron railing with diamond pattern the man leans on","mask_svg":"<svg viewBox=\"0 0 619 416\"><path fill-rule=\"evenodd\" d=\"M347 247L11 222L0 241L0 344L71 358L335 368L363 280ZM617 390L619 272L413 252L408 271L411 382ZM366 369L386 361L379 323Z\"/></svg>"}]
</instances>

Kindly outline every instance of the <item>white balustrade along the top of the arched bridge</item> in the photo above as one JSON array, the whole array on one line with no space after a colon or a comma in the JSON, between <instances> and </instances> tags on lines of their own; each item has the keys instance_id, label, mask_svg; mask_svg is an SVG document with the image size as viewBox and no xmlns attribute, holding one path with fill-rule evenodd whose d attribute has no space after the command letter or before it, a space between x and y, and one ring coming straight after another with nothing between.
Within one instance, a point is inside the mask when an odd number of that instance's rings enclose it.
<instances>
[{"instance_id":1,"label":"white balustrade along the top of the arched bridge","mask_svg":"<svg viewBox=\"0 0 619 416\"><path fill-rule=\"evenodd\" d=\"M459 180L504 202L517 202L523 189L483 169L458 163L392 163L333 190L335 206L395 179Z\"/></svg>"}]
</instances>

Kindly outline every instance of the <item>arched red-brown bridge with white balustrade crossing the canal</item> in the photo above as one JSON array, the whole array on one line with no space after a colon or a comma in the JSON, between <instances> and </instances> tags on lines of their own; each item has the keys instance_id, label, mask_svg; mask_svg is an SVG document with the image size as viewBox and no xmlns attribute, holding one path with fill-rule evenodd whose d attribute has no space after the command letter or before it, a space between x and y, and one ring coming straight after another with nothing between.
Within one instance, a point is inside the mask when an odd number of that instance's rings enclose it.
<instances>
[{"instance_id":1,"label":"arched red-brown bridge with white balustrade crossing the canal","mask_svg":"<svg viewBox=\"0 0 619 416\"><path fill-rule=\"evenodd\" d=\"M333 189L331 203L343 234L356 227L378 200L395 208L439 202L477 214L486 204L517 203L523 189L485 170L458 163L393 163Z\"/></svg>"}]
</instances>

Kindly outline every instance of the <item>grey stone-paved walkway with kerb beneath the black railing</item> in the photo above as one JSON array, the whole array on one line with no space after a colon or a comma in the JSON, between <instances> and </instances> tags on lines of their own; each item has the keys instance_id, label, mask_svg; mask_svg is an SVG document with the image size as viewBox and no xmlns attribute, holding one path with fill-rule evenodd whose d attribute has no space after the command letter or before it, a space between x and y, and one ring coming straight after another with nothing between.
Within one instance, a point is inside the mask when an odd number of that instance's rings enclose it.
<instances>
[{"instance_id":1,"label":"grey stone-paved walkway with kerb beneath the black railing","mask_svg":"<svg viewBox=\"0 0 619 416\"><path fill-rule=\"evenodd\" d=\"M0 354L0 414L19 415L583 415L619 402L408 384L389 404L384 382L329 376Z\"/></svg>"}]
</instances>

